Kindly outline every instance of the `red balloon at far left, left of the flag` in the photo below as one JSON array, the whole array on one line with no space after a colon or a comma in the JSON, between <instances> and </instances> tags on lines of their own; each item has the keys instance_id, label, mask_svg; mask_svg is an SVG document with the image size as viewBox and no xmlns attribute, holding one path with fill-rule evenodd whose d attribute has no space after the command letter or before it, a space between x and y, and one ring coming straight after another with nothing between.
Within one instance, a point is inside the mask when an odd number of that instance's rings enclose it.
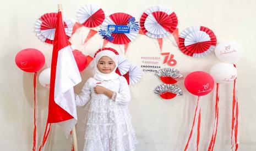
<instances>
[{"instance_id":1,"label":"red balloon at far left, left of the flag","mask_svg":"<svg viewBox=\"0 0 256 151\"><path fill-rule=\"evenodd\" d=\"M15 63L25 72L37 72L45 65L45 56L37 49L23 49L15 56Z\"/></svg>"}]
</instances>

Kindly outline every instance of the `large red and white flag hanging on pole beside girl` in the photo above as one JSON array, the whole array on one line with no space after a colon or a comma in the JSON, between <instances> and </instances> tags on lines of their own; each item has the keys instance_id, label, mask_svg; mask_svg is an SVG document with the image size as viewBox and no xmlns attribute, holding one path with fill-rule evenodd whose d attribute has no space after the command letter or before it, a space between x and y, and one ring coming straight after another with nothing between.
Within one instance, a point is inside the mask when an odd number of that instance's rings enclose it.
<instances>
[{"instance_id":1,"label":"large red and white flag hanging on pole beside girl","mask_svg":"<svg viewBox=\"0 0 256 151\"><path fill-rule=\"evenodd\" d=\"M48 119L40 150L47 140L51 123L59 124L65 135L70 135L77 123L73 87L80 82L81 76L64 31L62 13L59 11L53 41Z\"/></svg>"}]
</instances>

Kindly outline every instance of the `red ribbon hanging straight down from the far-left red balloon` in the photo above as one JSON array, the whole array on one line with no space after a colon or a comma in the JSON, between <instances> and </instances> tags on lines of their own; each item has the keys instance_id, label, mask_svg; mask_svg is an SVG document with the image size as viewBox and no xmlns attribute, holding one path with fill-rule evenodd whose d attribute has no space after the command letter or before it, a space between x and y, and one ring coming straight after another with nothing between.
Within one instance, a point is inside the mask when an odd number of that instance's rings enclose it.
<instances>
[{"instance_id":1,"label":"red ribbon hanging straight down from the far-left red balloon","mask_svg":"<svg viewBox=\"0 0 256 151\"><path fill-rule=\"evenodd\" d=\"M33 133L33 148L32 150L36 150L36 75L34 74L34 133Z\"/></svg>"}]
</instances>

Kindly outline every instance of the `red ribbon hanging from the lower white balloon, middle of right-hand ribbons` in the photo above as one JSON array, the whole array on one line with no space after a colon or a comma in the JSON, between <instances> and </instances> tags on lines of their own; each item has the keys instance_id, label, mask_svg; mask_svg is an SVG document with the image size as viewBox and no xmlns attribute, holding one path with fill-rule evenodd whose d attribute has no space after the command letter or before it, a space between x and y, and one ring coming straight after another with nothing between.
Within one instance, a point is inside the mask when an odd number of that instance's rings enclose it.
<instances>
[{"instance_id":1,"label":"red ribbon hanging from the lower white balloon, middle of right-hand ribbons","mask_svg":"<svg viewBox=\"0 0 256 151\"><path fill-rule=\"evenodd\" d=\"M214 130L213 130L213 135L211 135L211 142L209 144L208 151L212 151L214 149L216 135L217 135L217 127L219 123L219 83L217 83L216 85L217 86L216 86L216 98L215 98Z\"/></svg>"}]
</instances>

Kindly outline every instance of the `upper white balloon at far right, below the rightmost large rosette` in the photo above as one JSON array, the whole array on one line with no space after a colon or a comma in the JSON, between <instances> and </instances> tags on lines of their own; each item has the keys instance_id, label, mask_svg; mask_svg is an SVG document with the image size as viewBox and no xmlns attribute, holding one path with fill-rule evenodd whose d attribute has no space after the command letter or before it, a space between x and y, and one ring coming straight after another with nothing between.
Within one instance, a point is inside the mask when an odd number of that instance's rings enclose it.
<instances>
[{"instance_id":1,"label":"upper white balloon at far right, below the rightmost large rosette","mask_svg":"<svg viewBox=\"0 0 256 151\"><path fill-rule=\"evenodd\" d=\"M222 42L217 44L215 55L222 62L235 63L241 59L243 51L237 42Z\"/></svg>"}]
</instances>

